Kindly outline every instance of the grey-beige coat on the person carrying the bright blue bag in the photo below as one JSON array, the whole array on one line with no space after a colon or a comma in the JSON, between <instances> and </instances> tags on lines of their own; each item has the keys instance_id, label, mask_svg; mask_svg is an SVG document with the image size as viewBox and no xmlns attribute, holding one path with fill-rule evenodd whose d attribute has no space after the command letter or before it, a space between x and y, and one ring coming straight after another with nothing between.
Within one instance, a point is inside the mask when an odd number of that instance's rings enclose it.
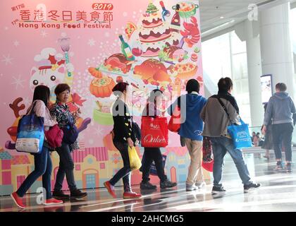
<instances>
[{"instance_id":1,"label":"grey-beige coat on the person carrying the bright blue bag","mask_svg":"<svg viewBox=\"0 0 296 226\"><path fill-rule=\"evenodd\" d=\"M233 124L240 124L240 117L233 105L231 105L226 99L220 98L220 100L226 106L231 122ZM202 136L228 136L227 126L231 123L218 99L210 97L202 109L200 117L202 118L202 121L204 121L204 131L202 132Z\"/></svg>"}]
</instances>

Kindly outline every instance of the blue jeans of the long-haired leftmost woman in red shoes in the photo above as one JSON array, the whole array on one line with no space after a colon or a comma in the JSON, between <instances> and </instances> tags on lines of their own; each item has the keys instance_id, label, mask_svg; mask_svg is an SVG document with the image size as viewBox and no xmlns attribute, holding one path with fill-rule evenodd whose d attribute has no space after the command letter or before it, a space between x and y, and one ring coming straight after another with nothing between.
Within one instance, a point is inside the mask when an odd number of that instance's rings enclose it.
<instances>
[{"instance_id":1,"label":"blue jeans of the long-haired leftmost woman in red shoes","mask_svg":"<svg viewBox=\"0 0 296 226\"><path fill-rule=\"evenodd\" d=\"M23 184L20 185L16 194L23 197L27 190L30 189L30 186L42 176L42 186L46 191L46 198L51 198L51 170L52 163L49 155L49 149L45 146L42 147L42 151L39 154L34 154L35 169L32 171Z\"/></svg>"}]
</instances>

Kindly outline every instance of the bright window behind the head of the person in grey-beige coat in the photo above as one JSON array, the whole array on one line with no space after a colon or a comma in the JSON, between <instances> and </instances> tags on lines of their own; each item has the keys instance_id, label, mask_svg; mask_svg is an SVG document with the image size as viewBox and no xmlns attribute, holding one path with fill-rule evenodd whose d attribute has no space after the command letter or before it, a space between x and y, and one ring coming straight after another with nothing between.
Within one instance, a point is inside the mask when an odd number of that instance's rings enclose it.
<instances>
[{"instance_id":1,"label":"bright window behind the head of the person in grey-beige coat","mask_svg":"<svg viewBox=\"0 0 296 226\"><path fill-rule=\"evenodd\" d=\"M234 31L202 42L202 64L206 77L204 81L211 81L205 85L211 84L216 88L221 77L230 77L233 80L233 95L241 109L241 117L250 123L246 43ZM216 91L217 88L208 87L206 93L212 90Z\"/></svg>"}]
</instances>

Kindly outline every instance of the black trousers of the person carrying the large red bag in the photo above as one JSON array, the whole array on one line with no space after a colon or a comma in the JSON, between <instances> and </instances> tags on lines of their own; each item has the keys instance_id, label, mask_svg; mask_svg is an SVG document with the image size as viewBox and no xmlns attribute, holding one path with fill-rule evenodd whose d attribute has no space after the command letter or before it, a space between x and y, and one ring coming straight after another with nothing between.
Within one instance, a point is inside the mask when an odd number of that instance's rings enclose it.
<instances>
[{"instance_id":1,"label":"black trousers of the person carrying the large red bag","mask_svg":"<svg viewBox=\"0 0 296 226\"><path fill-rule=\"evenodd\" d=\"M155 162L157 175L161 182L166 181L168 178L164 174L164 167L162 166L162 155L160 148L144 148L143 155L144 162L142 162L142 182L149 182L149 172L152 162Z\"/></svg>"}]
</instances>

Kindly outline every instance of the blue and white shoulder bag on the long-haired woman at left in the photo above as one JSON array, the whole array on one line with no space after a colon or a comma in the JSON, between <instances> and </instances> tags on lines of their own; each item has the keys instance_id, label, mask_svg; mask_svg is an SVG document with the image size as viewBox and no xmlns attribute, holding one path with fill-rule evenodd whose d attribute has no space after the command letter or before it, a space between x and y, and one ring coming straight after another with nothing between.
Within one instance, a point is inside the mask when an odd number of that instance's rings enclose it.
<instances>
[{"instance_id":1,"label":"blue and white shoulder bag on the long-haired woman at left","mask_svg":"<svg viewBox=\"0 0 296 226\"><path fill-rule=\"evenodd\" d=\"M32 110L34 109L32 107ZM31 111L32 112L32 111ZM16 150L25 153L40 153L44 142L44 118L26 114L18 121Z\"/></svg>"}]
</instances>

